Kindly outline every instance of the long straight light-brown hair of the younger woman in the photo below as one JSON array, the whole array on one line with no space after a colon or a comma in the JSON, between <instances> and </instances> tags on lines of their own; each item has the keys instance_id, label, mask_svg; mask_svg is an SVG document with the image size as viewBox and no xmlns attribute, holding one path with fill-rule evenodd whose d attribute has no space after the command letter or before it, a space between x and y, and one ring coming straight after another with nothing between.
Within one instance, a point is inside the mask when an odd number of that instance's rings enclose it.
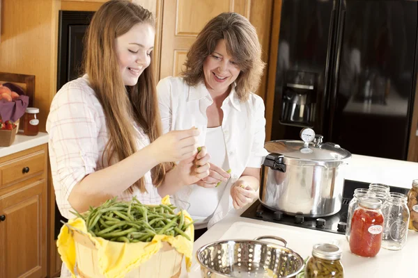
<instances>
[{"instance_id":1,"label":"long straight light-brown hair of the younger woman","mask_svg":"<svg viewBox=\"0 0 418 278\"><path fill-rule=\"evenodd\" d=\"M121 161L137 152L137 136L132 120L144 129L150 142L162 134L152 59L134 86L125 87L118 67L116 38L139 23L155 26L153 15L145 8L130 1L111 0L95 13L86 36L84 72L88 74L91 88L106 117L109 142L104 153L109 154L109 165L112 158ZM155 186L160 186L171 166L171 163L164 163L151 170ZM139 187L141 193L146 192L144 177L132 186ZM128 189L130 192L133 191L132 186Z\"/></svg>"}]
</instances>

